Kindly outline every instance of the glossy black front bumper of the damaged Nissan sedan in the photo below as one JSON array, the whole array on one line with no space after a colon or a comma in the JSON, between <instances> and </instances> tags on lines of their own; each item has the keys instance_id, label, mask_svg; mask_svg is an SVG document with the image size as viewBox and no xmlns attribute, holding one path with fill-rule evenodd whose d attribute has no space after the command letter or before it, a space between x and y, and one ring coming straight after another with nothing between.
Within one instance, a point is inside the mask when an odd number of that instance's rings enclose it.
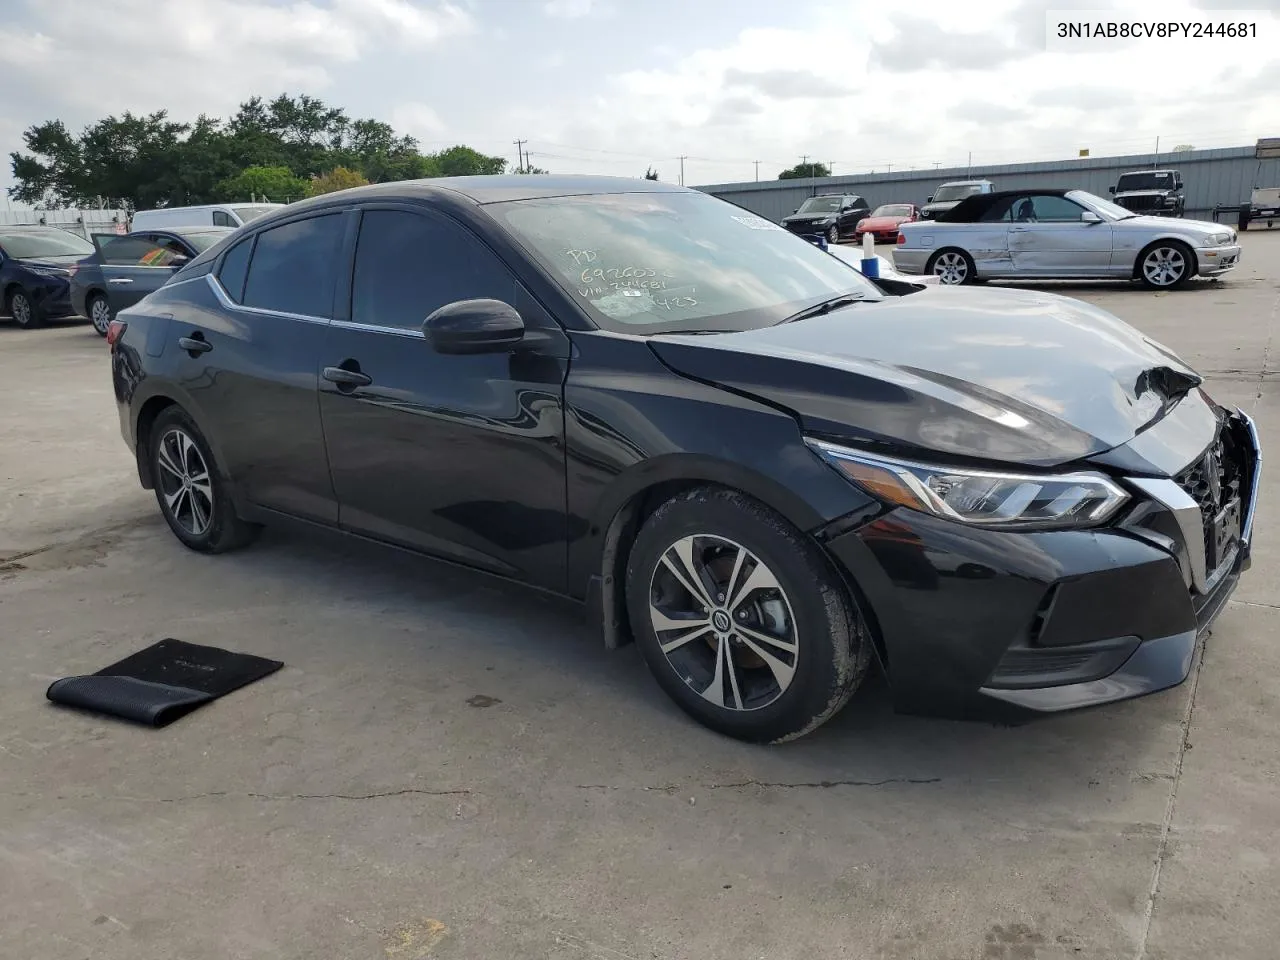
<instances>
[{"instance_id":1,"label":"glossy black front bumper of the damaged Nissan sedan","mask_svg":"<svg viewBox=\"0 0 1280 960\"><path fill-rule=\"evenodd\" d=\"M1138 486L1108 527L1009 532L897 508L827 539L878 637L896 709L1051 713L1185 680L1249 566L1261 451L1243 413L1225 429L1247 444L1238 534L1198 586L1188 557L1210 550L1199 520L1197 541L1179 543L1171 515ZM1135 516L1157 521L1139 527Z\"/></svg>"}]
</instances>

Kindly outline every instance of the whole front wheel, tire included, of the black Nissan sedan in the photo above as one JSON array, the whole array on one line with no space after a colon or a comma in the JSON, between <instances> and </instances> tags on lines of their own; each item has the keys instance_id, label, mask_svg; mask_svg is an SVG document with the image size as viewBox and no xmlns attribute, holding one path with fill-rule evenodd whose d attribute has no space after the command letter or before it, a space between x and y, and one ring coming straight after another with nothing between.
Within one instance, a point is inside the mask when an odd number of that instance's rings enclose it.
<instances>
[{"instance_id":1,"label":"whole front wheel, tire included, of the black Nissan sedan","mask_svg":"<svg viewBox=\"0 0 1280 960\"><path fill-rule=\"evenodd\" d=\"M829 561L772 509L696 488L645 521L627 614L659 686L727 736L780 742L852 696L872 644Z\"/></svg>"}]
</instances>

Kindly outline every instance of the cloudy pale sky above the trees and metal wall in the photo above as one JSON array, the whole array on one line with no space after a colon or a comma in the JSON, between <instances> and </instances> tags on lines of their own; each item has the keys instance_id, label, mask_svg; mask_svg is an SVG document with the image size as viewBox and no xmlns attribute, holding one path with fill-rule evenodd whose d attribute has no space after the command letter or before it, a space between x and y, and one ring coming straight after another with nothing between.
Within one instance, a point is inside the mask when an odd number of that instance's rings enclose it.
<instances>
[{"instance_id":1,"label":"cloudy pale sky above the trees and metal wall","mask_svg":"<svg viewBox=\"0 0 1280 960\"><path fill-rule=\"evenodd\" d=\"M1046 9L1253 9L1265 46L1047 52ZM984 9L982 15L975 10ZM0 0L0 152L29 124L312 93L425 148L690 184L1280 136L1280 0ZM1238 44L1238 46L1236 46ZM1270 54L1270 55L1268 55ZM12 183L8 160L0 186Z\"/></svg>"}]
</instances>

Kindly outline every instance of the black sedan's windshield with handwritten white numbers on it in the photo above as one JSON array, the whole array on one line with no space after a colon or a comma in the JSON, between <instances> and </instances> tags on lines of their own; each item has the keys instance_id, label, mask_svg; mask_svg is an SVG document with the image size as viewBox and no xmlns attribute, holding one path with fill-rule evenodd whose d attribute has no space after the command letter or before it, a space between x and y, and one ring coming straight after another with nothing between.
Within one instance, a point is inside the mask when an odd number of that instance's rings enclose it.
<instances>
[{"instance_id":1,"label":"black sedan's windshield with handwritten white numbers on it","mask_svg":"<svg viewBox=\"0 0 1280 960\"><path fill-rule=\"evenodd\" d=\"M755 214L705 193L609 193L486 207L605 330L769 326L841 294L878 291Z\"/></svg>"}]
</instances>

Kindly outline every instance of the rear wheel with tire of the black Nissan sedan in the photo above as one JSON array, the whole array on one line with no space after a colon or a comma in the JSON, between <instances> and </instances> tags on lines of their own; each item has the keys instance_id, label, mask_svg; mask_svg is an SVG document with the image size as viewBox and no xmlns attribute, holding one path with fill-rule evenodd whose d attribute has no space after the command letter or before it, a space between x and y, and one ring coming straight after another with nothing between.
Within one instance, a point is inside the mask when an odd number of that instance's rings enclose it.
<instances>
[{"instance_id":1,"label":"rear wheel with tire of the black Nissan sedan","mask_svg":"<svg viewBox=\"0 0 1280 960\"><path fill-rule=\"evenodd\" d=\"M169 407L156 417L150 457L160 512L186 547L223 553L257 536L260 527L236 516L209 442L184 410Z\"/></svg>"}]
</instances>

